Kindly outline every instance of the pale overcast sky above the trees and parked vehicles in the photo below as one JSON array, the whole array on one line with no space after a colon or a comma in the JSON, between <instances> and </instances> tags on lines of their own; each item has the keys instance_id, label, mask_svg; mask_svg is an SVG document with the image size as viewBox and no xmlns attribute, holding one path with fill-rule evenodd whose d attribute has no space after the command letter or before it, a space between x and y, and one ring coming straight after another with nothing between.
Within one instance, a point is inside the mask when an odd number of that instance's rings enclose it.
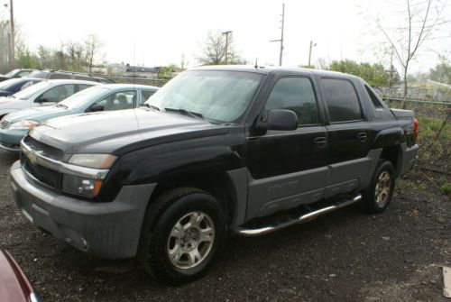
<instances>
[{"instance_id":1,"label":"pale overcast sky above the trees and parked vehicles","mask_svg":"<svg viewBox=\"0 0 451 302\"><path fill-rule=\"evenodd\" d=\"M0 0L8 3L9 0ZM412 0L422 5L425 0ZM161 66L180 63L185 54L189 66L197 64L199 45L208 30L233 31L235 49L259 64L279 62L281 7L285 3L285 50L283 65L308 63L309 41L312 61L318 58L376 61L384 41L375 34L369 15L385 17L404 8L405 1L371 0L14 0L16 23L31 50L40 44L58 48L64 41L83 41L94 33L103 43L102 53L110 63ZM446 4L445 19L451 19ZM385 12L385 14L382 14ZM0 18L8 18L0 8ZM403 24L398 15L387 19L387 27ZM437 53L451 50L451 27L447 24L428 41L412 64L411 71L427 71L437 63ZM430 51L434 50L434 51ZM448 51L446 53L446 51ZM385 59L390 56L385 56ZM97 61L101 56L97 58ZM388 61L385 62L388 66Z\"/></svg>"}]
</instances>

